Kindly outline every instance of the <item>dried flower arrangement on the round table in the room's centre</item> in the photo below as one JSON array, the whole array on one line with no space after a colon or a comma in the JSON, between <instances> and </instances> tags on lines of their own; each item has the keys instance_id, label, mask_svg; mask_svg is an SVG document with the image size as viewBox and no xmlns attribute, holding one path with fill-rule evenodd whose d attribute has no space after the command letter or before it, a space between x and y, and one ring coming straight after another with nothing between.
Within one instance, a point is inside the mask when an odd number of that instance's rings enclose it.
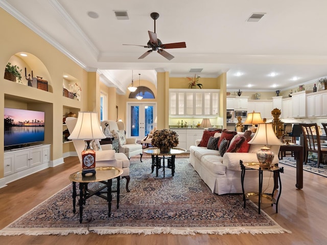
<instances>
[{"instance_id":1,"label":"dried flower arrangement on the round table in the room's centre","mask_svg":"<svg viewBox=\"0 0 327 245\"><path fill-rule=\"evenodd\" d=\"M178 145L178 134L169 129L157 130L152 135L151 144L157 148L173 148Z\"/></svg>"}]
</instances>

